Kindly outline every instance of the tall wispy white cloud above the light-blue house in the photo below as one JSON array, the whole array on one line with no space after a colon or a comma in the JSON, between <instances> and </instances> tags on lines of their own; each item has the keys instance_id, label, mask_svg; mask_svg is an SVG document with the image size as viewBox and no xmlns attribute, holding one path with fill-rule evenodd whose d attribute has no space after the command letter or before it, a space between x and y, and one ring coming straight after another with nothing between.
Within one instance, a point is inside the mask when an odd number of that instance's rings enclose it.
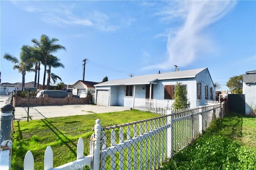
<instances>
[{"instance_id":1,"label":"tall wispy white cloud above the light-blue house","mask_svg":"<svg viewBox=\"0 0 256 170\"><path fill-rule=\"evenodd\" d=\"M178 3L178 4L177 4ZM168 61L147 67L169 69L170 65L186 66L202 53L212 49L210 36L205 28L224 17L235 5L235 1L182 1L159 12L162 20L179 18L182 26L168 33Z\"/></svg>"}]
</instances>

